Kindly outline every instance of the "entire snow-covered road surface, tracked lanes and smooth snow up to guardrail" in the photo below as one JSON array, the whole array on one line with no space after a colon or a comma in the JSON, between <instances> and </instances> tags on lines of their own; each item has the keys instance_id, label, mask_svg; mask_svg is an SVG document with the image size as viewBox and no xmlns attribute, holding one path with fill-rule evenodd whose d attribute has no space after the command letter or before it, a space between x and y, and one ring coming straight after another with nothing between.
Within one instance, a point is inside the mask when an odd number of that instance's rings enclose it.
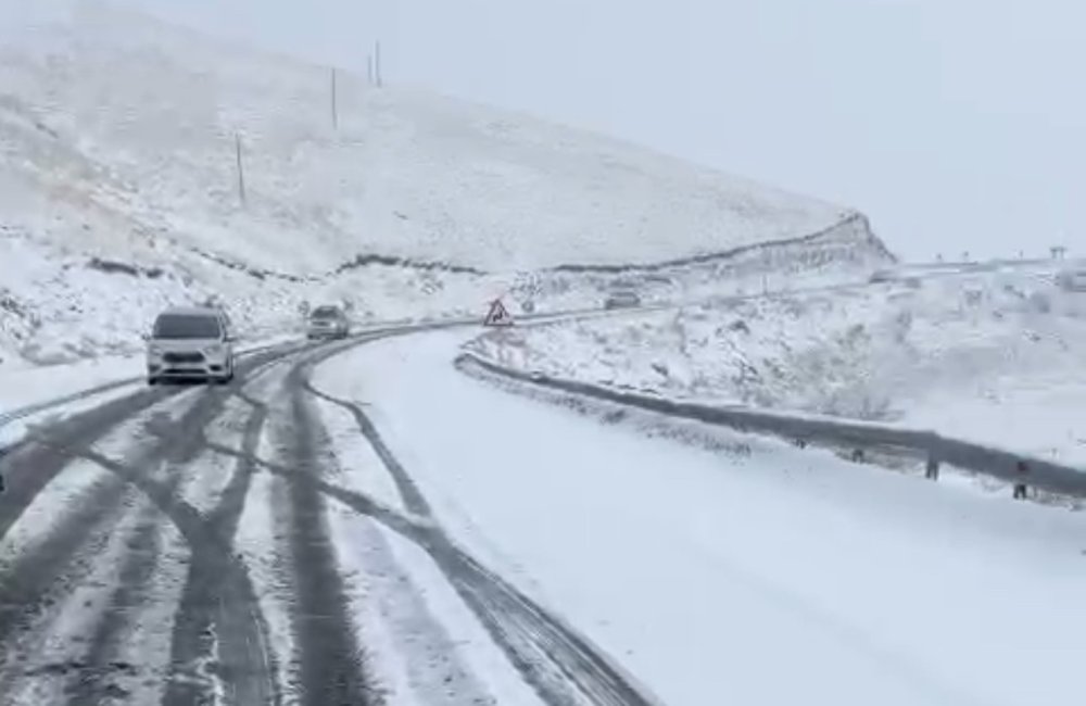
<instances>
[{"instance_id":1,"label":"entire snow-covered road surface, tracked lanes and smooth snow up to guardrail","mask_svg":"<svg viewBox=\"0 0 1086 706\"><path fill-rule=\"evenodd\" d=\"M0 705L1073 701L1078 515L528 400L457 373L465 338L33 430Z\"/></svg>"}]
</instances>

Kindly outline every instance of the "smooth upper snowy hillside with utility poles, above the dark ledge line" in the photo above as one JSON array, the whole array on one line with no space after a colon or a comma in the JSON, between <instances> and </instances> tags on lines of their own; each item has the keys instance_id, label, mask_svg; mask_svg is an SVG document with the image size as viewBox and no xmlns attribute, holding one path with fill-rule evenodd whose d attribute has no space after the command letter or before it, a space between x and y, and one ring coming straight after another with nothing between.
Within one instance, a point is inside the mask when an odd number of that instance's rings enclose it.
<instances>
[{"instance_id":1,"label":"smooth upper snowy hillside with utility poles, above the dark ledge line","mask_svg":"<svg viewBox=\"0 0 1086 706\"><path fill-rule=\"evenodd\" d=\"M374 90L342 73L337 130L328 68L78 7L70 22L5 33L5 142L15 129L17 148L38 152L8 168L258 266L323 272L358 252L498 270L653 263L801 237L848 214L627 143Z\"/></svg>"}]
</instances>

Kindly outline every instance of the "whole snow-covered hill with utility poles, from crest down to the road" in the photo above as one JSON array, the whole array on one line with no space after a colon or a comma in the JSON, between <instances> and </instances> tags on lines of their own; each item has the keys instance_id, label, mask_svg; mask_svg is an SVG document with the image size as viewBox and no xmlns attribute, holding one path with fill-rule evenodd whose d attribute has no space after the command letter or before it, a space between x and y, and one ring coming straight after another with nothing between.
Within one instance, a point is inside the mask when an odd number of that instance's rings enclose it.
<instances>
[{"instance_id":1,"label":"whole snow-covered hill with utility poles, from crest down to the road","mask_svg":"<svg viewBox=\"0 0 1086 706\"><path fill-rule=\"evenodd\" d=\"M0 358L132 350L165 303L282 329L892 259L847 209L344 72L333 126L331 79L94 0L0 5Z\"/></svg>"}]
</instances>

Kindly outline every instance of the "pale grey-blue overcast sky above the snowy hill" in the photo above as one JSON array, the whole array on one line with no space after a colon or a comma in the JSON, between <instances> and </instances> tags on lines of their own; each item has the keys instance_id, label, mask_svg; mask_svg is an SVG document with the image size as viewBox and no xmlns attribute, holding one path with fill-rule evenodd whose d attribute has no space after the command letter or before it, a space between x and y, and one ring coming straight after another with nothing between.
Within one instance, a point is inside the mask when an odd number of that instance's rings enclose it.
<instances>
[{"instance_id":1,"label":"pale grey-blue overcast sky above the snowy hill","mask_svg":"<svg viewBox=\"0 0 1086 706\"><path fill-rule=\"evenodd\" d=\"M1086 254L1081 0L126 0L855 206L909 259Z\"/></svg>"}]
</instances>

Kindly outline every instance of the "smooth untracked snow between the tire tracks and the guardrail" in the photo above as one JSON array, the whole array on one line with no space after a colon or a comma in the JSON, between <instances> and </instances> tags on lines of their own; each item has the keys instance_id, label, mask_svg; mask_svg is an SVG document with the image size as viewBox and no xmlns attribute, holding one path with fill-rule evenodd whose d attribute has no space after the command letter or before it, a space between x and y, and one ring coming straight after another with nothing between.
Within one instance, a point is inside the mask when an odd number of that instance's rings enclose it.
<instances>
[{"instance_id":1,"label":"smooth untracked snow between the tire tracks and the guardrail","mask_svg":"<svg viewBox=\"0 0 1086 706\"><path fill-rule=\"evenodd\" d=\"M367 345L317 382L353 380L457 541L665 703L1077 697L1081 515L599 425L456 373L463 340Z\"/></svg>"}]
</instances>

